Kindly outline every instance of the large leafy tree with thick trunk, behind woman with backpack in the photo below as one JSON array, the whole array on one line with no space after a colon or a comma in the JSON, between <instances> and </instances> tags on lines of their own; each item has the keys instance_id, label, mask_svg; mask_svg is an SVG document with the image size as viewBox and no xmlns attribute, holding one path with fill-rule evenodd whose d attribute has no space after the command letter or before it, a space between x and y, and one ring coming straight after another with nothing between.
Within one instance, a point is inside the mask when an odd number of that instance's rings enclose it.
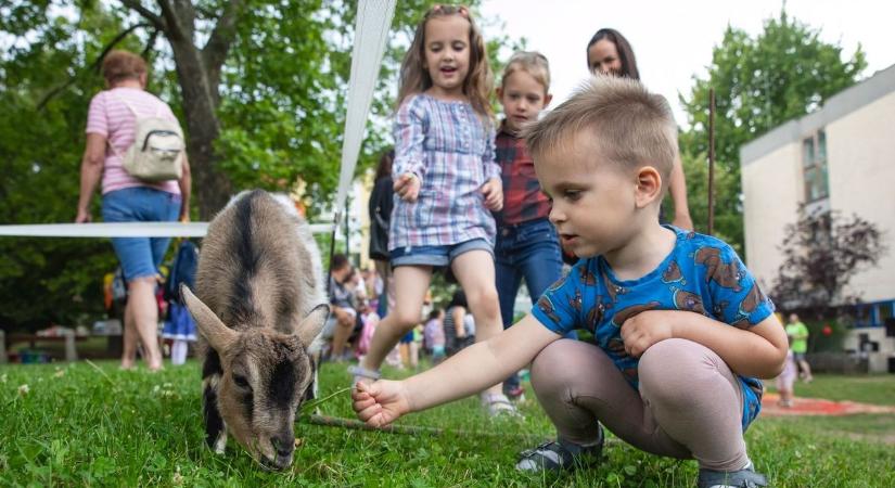
<instances>
[{"instance_id":1,"label":"large leafy tree with thick trunk, behind woman with backpack","mask_svg":"<svg viewBox=\"0 0 895 488\"><path fill-rule=\"evenodd\" d=\"M477 4L478 2L473 2ZM337 184L356 0L12 0L0 4L0 222L74 218L84 127L112 48L143 53L150 91L190 141L199 216L231 189L307 183L314 217ZM387 144L395 73L429 2L401 2L358 171ZM493 38L491 54L507 44ZM494 61L494 57L493 57ZM94 198L93 215L99 215ZM99 314L107 242L0 239L0 324Z\"/></svg>"}]
</instances>

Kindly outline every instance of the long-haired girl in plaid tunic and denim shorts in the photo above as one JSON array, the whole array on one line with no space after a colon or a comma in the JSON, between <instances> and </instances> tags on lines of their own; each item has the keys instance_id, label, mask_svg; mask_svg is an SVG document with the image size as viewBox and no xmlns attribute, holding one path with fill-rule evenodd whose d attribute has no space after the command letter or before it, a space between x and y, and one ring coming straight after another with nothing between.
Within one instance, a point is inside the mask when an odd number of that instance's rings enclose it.
<instances>
[{"instance_id":1,"label":"long-haired girl in plaid tunic and denim shorts","mask_svg":"<svg viewBox=\"0 0 895 488\"><path fill-rule=\"evenodd\" d=\"M417 27L401 63L395 117L396 194L388 232L396 304L351 372L380 376L383 358L421 318L433 269L450 267L466 293L477 341L500 332L495 288L495 223L503 204L494 163L485 41L469 9L435 5ZM483 385L493 415L515 413L500 384Z\"/></svg>"}]
</instances>

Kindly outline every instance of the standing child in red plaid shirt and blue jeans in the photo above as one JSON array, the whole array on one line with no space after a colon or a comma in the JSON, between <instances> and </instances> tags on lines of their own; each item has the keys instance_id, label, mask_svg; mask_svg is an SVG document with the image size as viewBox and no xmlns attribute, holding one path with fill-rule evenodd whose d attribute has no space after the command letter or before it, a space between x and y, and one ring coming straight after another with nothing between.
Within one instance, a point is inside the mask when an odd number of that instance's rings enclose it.
<instances>
[{"instance_id":1,"label":"standing child in red plaid shirt and blue jeans","mask_svg":"<svg viewBox=\"0 0 895 488\"><path fill-rule=\"evenodd\" d=\"M550 201L540 191L535 163L519 137L522 126L538 119L550 104L550 67L538 52L517 52L503 68L497 97L503 105L503 123L495 139L496 160L503 177L503 209L497 221L495 268L503 329L513 324L516 293L525 279L528 296L536 301L560 279L562 252L557 230L548 220ZM503 382L503 393L521 398L519 374Z\"/></svg>"}]
</instances>

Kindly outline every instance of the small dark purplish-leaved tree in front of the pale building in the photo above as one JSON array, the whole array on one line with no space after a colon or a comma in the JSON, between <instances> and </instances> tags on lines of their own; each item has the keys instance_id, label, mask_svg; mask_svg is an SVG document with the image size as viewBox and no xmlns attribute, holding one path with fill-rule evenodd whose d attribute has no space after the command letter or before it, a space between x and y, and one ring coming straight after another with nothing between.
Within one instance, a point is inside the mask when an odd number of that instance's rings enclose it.
<instances>
[{"instance_id":1,"label":"small dark purplish-leaved tree in front of the pale building","mask_svg":"<svg viewBox=\"0 0 895 488\"><path fill-rule=\"evenodd\" d=\"M809 319L830 319L856 304L860 296L847 292L848 282L887 251L878 227L857 215L846 219L802 206L784 232L771 296Z\"/></svg>"}]
</instances>

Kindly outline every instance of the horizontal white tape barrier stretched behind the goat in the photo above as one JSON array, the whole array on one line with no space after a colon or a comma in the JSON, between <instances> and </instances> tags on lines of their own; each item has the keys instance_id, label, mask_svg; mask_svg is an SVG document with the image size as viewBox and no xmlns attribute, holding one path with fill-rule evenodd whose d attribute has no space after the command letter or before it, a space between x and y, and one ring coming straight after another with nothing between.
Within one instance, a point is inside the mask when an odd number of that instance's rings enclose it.
<instances>
[{"instance_id":1,"label":"horizontal white tape barrier stretched behind the goat","mask_svg":"<svg viewBox=\"0 0 895 488\"><path fill-rule=\"evenodd\" d=\"M332 232L332 223L312 223L311 232ZM0 236L18 237L204 237L208 222L101 222L0 226Z\"/></svg>"}]
</instances>

